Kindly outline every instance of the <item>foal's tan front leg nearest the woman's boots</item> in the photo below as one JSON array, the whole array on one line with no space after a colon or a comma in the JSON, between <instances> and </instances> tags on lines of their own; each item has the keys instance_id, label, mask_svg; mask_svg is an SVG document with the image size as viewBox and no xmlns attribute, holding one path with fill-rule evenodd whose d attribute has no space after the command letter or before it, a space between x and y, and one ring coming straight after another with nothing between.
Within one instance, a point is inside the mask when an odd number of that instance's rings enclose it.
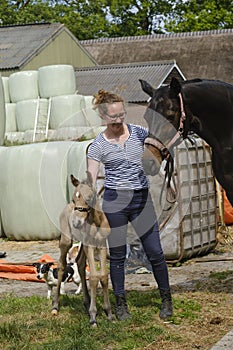
<instances>
[{"instance_id":1,"label":"foal's tan front leg nearest the woman's boots","mask_svg":"<svg viewBox=\"0 0 233 350\"><path fill-rule=\"evenodd\" d=\"M106 315L108 316L108 320L112 321L112 310L111 310L111 304L109 300L109 293L108 293L108 271L107 271L107 249L101 248L100 253L100 282L101 286L103 288L103 296L104 296L104 311Z\"/></svg>"}]
</instances>

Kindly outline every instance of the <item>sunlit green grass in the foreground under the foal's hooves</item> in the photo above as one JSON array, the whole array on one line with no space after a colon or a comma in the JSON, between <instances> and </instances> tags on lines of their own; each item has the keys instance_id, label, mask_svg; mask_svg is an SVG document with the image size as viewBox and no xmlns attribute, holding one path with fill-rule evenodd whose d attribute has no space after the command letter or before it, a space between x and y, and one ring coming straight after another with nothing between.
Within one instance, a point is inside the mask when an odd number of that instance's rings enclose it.
<instances>
[{"instance_id":1,"label":"sunlit green grass in the foreground under the foal's hooves","mask_svg":"<svg viewBox=\"0 0 233 350\"><path fill-rule=\"evenodd\" d=\"M114 305L114 296L110 292ZM109 322L102 311L102 296L97 297L98 327L89 325L82 295L62 296L58 316L51 315L51 300L42 297L0 298L0 349L4 350L131 350L143 349L163 337L179 342L158 317L161 305L157 291L127 294L129 321ZM192 321L201 312L189 299L174 299L174 325Z\"/></svg>"}]
</instances>

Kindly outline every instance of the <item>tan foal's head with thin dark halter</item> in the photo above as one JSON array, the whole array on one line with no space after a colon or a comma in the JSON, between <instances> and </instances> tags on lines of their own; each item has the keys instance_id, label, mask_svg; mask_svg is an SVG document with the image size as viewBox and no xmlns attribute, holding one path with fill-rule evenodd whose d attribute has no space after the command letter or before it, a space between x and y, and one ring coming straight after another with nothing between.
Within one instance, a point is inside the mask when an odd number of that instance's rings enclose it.
<instances>
[{"instance_id":1,"label":"tan foal's head with thin dark halter","mask_svg":"<svg viewBox=\"0 0 233 350\"><path fill-rule=\"evenodd\" d=\"M87 217L95 205L95 191L92 187L92 177L87 172L87 180L79 181L73 175L70 176L71 182L75 187L75 191L72 197L72 225L74 228L81 229Z\"/></svg>"}]
</instances>

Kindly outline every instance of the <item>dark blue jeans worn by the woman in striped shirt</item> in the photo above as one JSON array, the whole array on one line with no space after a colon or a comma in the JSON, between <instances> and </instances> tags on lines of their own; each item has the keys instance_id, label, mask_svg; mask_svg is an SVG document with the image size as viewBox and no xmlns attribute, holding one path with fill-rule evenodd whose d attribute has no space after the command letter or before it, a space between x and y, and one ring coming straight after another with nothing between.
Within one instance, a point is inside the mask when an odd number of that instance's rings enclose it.
<instances>
[{"instance_id":1,"label":"dark blue jeans worn by the woman in striped shirt","mask_svg":"<svg viewBox=\"0 0 233 350\"><path fill-rule=\"evenodd\" d=\"M110 277L115 295L125 292L127 226L131 222L151 263L158 288L169 289L167 264L161 247L157 218L148 189L104 191L103 211L111 227L108 237Z\"/></svg>"}]
</instances>

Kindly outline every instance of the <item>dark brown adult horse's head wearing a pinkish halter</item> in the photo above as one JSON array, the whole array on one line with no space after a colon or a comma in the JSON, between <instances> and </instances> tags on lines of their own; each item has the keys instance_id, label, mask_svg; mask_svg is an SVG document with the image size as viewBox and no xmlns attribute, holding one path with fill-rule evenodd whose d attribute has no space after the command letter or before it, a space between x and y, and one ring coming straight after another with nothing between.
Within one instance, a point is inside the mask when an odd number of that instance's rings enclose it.
<instances>
[{"instance_id":1,"label":"dark brown adult horse's head wearing a pinkish halter","mask_svg":"<svg viewBox=\"0 0 233 350\"><path fill-rule=\"evenodd\" d=\"M173 78L170 86L154 89L144 80L140 80L144 92L151 98L144 114L149 128L149 138L145 140L146 149L143 166L147 174L158 173L163 159L169 157L169 149L174 146L171 140L180 127L181 107L179 94L181 85Z\"/></svg>"}]
</instances>

